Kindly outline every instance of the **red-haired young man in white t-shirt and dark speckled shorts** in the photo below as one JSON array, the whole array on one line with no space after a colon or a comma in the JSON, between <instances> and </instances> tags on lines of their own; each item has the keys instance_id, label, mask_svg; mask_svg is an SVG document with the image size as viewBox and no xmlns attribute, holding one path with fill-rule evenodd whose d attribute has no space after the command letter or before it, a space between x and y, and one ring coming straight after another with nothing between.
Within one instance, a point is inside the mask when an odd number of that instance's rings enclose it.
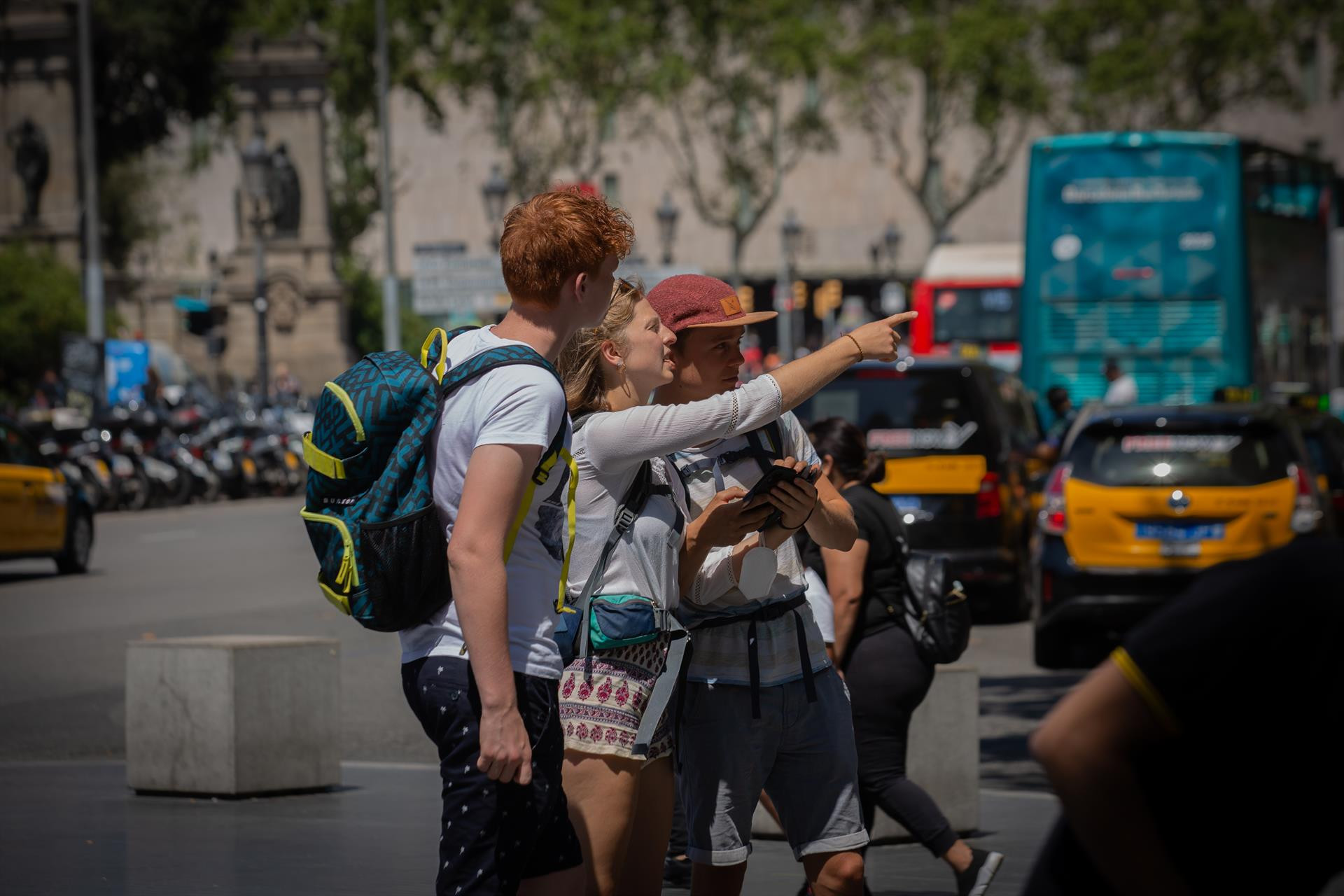
<instances>
[{"instance_id":1,"label":"red-haired young man in white t-shirt and dark speckled shorts","mask_svg":"<svg viewBox=\"0 0 1344 896\"><path fill-rule=\"evenodd\" d=\"M578 329L602 320L633 239L625 212L598 196L560 191L516 206L500 239L513 305L497 326L449 343L448 361L503 345L554 361ZM554 372L513 364L453 392L431 435L453 600L402 630L401 642L402 689L438 748L444 782L439 896L583 891L560 782L564 665L554 638L574 473L558 462L546 488L524 485L556 433L567 457Z\"/></svg>"}]
</instances>

